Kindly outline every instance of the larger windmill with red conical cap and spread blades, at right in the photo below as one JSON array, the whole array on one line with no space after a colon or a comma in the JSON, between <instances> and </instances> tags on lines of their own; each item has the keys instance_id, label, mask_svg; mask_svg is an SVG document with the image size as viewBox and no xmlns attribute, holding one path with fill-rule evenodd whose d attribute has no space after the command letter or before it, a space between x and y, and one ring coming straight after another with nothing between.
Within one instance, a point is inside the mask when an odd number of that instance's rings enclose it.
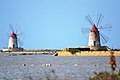
<instances>
[{"instance_id":1,"label":"larger windmill with red conical cap and spread blades, at right","mask_svg":"<svg viewBox=\"0 0 120 80\"><path fill-rule=\"evenodd\" d=\"M92 20L92 18L88 15L86 16L87 22L92 26L92 28L82 28L81 31L83 34L89 33L89 41L88 46L101 46L101 40L104 43L108 41L108 38L102 33L102 30L109 31L112 27L110 25L102 26L102 20L104 16L102 14L98 14L96 18L96 22Z\"/></svg>"}]
</instances>

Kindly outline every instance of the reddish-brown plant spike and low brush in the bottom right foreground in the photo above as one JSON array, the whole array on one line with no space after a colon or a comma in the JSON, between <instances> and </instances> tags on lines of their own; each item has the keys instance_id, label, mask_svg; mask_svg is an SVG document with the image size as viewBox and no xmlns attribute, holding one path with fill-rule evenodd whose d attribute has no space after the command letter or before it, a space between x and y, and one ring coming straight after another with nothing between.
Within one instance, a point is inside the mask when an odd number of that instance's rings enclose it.
<instances>
[{"instance_id":1,"label":"reddish-brown plant spike and low brush in the bottom right foreground","mask_svg":"<svg viewBox=\"0 0 120 80\"><path fill-rule=\"evenodd\" d=\"M89 80L120 80L120 69L118 71L118 74L114 74L117 65L114 53L112 51L110 51L109 66L112 70L112 73L100 72L97 74L96 72L94 72L96 76L90 78Z\"/></svg>"}]
</instances>

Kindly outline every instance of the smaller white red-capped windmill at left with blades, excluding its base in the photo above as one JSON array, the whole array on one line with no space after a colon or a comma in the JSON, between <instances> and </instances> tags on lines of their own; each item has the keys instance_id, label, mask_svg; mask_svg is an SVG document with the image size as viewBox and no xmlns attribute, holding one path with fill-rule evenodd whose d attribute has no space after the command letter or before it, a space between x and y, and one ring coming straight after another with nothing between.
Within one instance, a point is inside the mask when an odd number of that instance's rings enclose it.
<instances>
[{"instance_id":1,"label":"smaller white red-capped windmill at left with blades, excluding its base","mask_svg":"<svg viewBox=\"0 0 120 80\"><path fill-rule=\"evenodd\" d=\"M9 36L8 49L18 49L23 45L20 39L23 33L19 31L20 26L18 24L16 24L16 29L12 27L12 24L9 24L9 26L12 33Z\"/></svg>"}]
</instances>

